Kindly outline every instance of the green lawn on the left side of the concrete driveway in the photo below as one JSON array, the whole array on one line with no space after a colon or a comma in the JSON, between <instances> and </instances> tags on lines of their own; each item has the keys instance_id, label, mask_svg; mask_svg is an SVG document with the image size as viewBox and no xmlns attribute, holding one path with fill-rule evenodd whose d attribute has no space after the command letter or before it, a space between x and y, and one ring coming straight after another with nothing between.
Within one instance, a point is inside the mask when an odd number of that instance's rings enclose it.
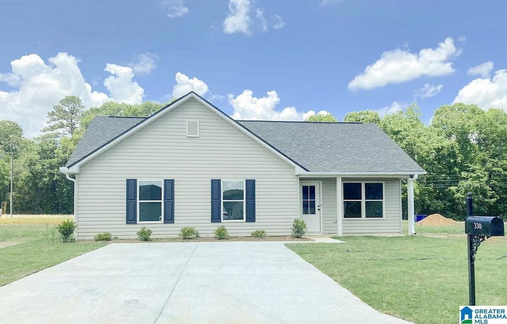
<instances>
[{"instance_id":1,"label":"green lawn on the left side of the concrete driveway","mask_svg":"<svg viewBox=\"0 0 507 324\"><path fill-rule=\"evenodd\" d=\"M0 219L0 286L77 257L98 247L102 242L55 243L48 238L49 226L64 219ZM14 244L15 245L8 245ZM6 246L8 245L8 246Z\"/></svg>"}]
</instances>

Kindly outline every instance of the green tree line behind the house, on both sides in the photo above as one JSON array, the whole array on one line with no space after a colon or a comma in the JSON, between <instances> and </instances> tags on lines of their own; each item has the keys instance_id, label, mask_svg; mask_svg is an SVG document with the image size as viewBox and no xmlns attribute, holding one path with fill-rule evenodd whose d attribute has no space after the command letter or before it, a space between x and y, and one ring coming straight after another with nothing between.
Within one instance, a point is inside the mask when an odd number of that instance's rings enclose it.
<instances>
[{"instance_id":1,"label":"green tree line behind the house, on both sides","mask_svg":"<svg viewBox=\"0 0 507 324\"><path fill-rule=\"evenodd\" d=\"M72 213L73 184L58 168L65 165L93 117L147 117L164 105L106 102L86 110L78 97L67 96L48 113L47 126L35 138L24 137L21 126L13 121L0 121L0 201L8 201L12 154L15 213ZM337 122L331 114L307 120ZM475 199L476 214L504 216L507 212L507 113L503 110L443 105L426 125L414 103L385 117L375 111L351 112L344 122L377 124L428 172L414 186L416 213L438 212L462 220L468 192Z\"/></svg>"}]
</instances>

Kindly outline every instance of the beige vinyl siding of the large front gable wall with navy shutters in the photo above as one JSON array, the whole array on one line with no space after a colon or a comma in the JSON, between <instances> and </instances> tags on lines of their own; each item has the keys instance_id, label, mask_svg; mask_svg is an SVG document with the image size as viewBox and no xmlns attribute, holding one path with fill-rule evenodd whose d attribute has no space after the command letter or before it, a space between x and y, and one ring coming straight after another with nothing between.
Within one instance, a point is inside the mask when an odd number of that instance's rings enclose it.
<instances>
[{"instance_id":1,"label":"beige vinyl siding of the large front gable wall with navy shutters","mask_svg":"<svg viewBox=\"0 0 507 324\"><path fill-rule=\"evenodd\" d=\"M199 120L200 137L186 136L186 120ZM288 235L298 215L295 169L195 99L183 103L81 166L79 239L99 232L136 237L177 236L184 226L201 235L225 225L230 235L264 229ZM127 178L174 179L174 224L125 224ZM210 179L256 179L256 222L210 222Z\"/></svg>"}]
</instances>

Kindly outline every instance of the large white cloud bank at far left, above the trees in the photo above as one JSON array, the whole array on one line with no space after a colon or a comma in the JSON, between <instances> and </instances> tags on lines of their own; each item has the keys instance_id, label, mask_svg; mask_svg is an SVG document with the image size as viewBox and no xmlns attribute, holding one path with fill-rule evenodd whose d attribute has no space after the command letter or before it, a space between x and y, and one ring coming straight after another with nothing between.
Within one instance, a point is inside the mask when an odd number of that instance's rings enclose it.
<instances>
[{"instance_id":1,"label":"large white cloud bank at far left, above the trees","mask_svg":"<svg viewBox=\"0 0 507 324\"><path fill-rule=\"evenodd\" d=\"M81 98L86 107L100 105L108 100L127 101L132 95L122 96L119 89L126 88L142 97L142 88L132 82L130 67L111 64L106 70L117 77L110 81L107 89L112 98L98 91L92 91L81 74L79 59L67 53L58 53L48 59L48 63L37 54L22 56L11 62L12 71L0 74L0 82L14 87L10 91L0 90L0 112L2 118L13 120L23 127L28 137L38 135L45 126L47 114L60 99L67 95ZM110 65L110 64L108 64ZM115 68L118 67L118 68ZM130 75L123 69L130 69ZM106 79L106 80L107 80ZM132 87L134 84L136 87ZM105 85L105 81L104 81ZM138 100L135 100L138 101Z\"/></svg>"}]
</instances>

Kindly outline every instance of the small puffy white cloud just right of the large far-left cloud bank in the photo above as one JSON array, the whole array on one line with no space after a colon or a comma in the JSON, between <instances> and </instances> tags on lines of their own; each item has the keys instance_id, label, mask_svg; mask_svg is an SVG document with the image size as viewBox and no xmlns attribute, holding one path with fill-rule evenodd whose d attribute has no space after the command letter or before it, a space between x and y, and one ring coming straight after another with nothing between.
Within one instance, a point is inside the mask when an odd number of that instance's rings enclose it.
<instances>
[{"instance_id":1,"label":"small puffy white cloud just right of the large far-left cloud bank","mask_svg":"<svg viewBox=\"0 0 507 324\"><path fill-rule=\"evenodd\" d=\"M131 67L117 64L105 64L104 71L112 76L105 78L104 86L111 93L111 98L118 102L141 103L144 90L132 81L134 72Z\"/></svg>"}]
</instances>

